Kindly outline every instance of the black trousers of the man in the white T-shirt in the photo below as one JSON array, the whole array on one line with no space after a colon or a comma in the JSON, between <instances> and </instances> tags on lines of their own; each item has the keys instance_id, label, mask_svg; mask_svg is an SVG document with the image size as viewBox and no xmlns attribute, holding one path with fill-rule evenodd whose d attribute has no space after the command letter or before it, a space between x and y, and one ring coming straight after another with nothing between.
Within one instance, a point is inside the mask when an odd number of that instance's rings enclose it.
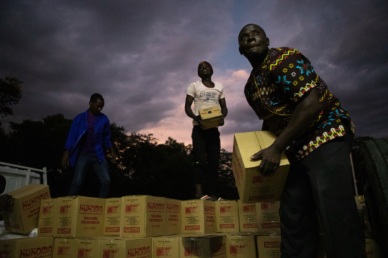
<instances>
[{"instance_id":1,"label":"black trousers of the man in the white T-shirt","mask_svg":"<svg viewBox=\"0 0 388 258\"><path fill-rule=\"evenodd\" d=\"M218 128L202 130L198 125L194 125L192 139L193 182L206 184L207 194L216 195L221 151Z\"/></svg>"}]
</instances>

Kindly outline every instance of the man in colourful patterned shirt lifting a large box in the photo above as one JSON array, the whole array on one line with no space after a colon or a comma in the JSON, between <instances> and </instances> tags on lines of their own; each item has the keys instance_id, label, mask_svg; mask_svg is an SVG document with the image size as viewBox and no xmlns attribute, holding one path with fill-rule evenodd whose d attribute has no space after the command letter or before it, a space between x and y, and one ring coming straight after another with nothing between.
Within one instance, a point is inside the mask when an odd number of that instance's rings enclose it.
<instances>
[{"instance_id":1,"label":"man in colourful patterned shirt lifting a large box","mask_svg":"<svg viewBox=\"0 0 388 258\"><path fill-rule=\"evenodd\" d=\"M326 256L365 257L365 237L352 189L350 150L354 126L339 99L327 90L298 50L269 48L262 28L248 24L239 50L253 70L245 97L277 135L268 148L252 153L268 176L285 151L291 166L280 201L282 258L315 257L319 243L316 211L323 225Z\"/></svg>"}]
</instances>

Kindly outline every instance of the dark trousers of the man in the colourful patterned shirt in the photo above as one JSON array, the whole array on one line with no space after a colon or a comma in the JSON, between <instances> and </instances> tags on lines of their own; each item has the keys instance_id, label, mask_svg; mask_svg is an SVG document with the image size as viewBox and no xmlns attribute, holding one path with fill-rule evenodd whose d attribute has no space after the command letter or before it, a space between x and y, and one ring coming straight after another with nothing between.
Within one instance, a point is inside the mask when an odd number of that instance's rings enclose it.
<instances>
[{"instance_id":1,"label":"dark trousers of the man in the colourful patterned shirt","mask_svg":"<svg viewBox=\"0 0 388 258\"><path fill-rule=\"evenodd\" d=\"M349 137L292 162L280 201L281 257L315 257L322 222L327 258L364 258L365 236L352 187Z\"/></svg>"}]
</instances>

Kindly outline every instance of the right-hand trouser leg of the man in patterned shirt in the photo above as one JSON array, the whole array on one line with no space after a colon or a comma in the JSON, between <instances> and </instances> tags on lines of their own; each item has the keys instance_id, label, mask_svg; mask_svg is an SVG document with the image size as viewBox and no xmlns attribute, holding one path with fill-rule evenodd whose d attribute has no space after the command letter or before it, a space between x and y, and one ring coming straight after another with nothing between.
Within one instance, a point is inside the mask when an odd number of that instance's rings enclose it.
<instances>
[{"instance_id":1,"label":"right-hand trouser leg of the man in patterned shirt","mask_svg":"<svg viewBox=\"0 0 388 258\"><path fill-rule=\"evenodd\" d=\"M301 162L309 167L327 258L364 258L365 236L353 193L346 138L324 143Z\"/></svg>"}]
</instances>

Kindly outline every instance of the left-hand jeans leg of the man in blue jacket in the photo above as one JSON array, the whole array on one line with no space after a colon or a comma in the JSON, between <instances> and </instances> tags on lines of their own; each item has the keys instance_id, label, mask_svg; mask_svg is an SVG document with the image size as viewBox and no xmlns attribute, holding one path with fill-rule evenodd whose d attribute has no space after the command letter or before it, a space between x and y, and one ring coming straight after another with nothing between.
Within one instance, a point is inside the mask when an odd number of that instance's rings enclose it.
<instances>
[{"instance_id":1,"label":"left-hand jeans leg of the man in blue jacket","mask_svg":"<svg viewBox=\"0 0 388 258\"><path fill-rule=\"evenodd\" d=\"M78 195L85 179L86 171L88 167L93 164L93 155L86 153L79 153L77 157L76 166L74 169L73 181L70 185L69 196Z\"/></svg>"}]
</instances>

